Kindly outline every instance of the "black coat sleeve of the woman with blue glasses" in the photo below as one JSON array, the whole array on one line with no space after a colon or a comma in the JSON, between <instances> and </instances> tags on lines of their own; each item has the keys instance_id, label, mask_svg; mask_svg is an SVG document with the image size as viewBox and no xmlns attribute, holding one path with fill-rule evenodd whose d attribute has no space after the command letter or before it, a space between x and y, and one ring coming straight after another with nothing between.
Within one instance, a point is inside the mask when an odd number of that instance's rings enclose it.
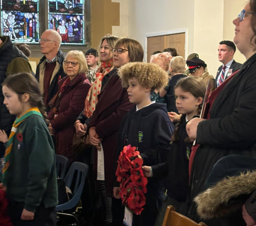
<instances>
[{"instance_id":1,"label":"black coat sleeve of the woman with blue glasses","mask_svg":"<svg viewBox=\"0 0 256 226\"><path fill-rule=\"evenodd\" d=\"M245 148L256 143L256 76L252 74L245 79L247 81L233 113L198 124L198 144ZM237 90L233 90L233 94L235 92Z\"/></svg>"}]
</instances>

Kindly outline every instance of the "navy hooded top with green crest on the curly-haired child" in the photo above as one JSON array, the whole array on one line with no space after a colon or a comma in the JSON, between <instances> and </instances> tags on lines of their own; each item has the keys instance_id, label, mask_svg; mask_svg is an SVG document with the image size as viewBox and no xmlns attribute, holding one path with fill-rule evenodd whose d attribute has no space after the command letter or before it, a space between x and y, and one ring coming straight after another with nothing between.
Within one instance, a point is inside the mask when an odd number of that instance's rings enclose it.
<instances>
[{"instance_id":1,"label":"navy hooded top with green crest on the curly-haired child","mask_svg":"<svg viewBox=\"0 0 256 226\"><path fill-rule=\"evenodd\" d=\"M156 165L168 157L174 125L166 104L152 103L136 111L136 106L124 117L119 130L117 158L125 145L137 147L143 165Z\"/></svg>"}]
</instances>

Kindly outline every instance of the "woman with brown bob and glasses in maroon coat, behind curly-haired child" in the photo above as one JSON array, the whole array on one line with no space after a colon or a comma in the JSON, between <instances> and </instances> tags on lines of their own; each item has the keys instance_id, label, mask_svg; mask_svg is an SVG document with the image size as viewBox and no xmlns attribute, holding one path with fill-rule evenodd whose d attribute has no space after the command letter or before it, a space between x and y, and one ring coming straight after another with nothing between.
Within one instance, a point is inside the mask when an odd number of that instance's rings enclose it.
<instances>
[{"instance_id":1,"label":"woman with brown bob and glasses in maroon coat, behind curly-haired child","mask_svg":"<svg viewBox=\"0 0 256 226\"><path fill-rule=\"evenodd\" d=\"M143 61L144 56L142 45L136 40L129 38L119 39L112 49L112 53L113 65L117 70L128 62ZM92 114L88 131L91 143L95 146L94 172L100 195L103 196L103 194L105 194L111 196L113 190L114 156L117 148L118 131L124 116L132 109L134 104L130 103L127 91L122 87L117 72L109 78L104 89L101 90L97 97L98 102ZM103 178L100 178L97 173L97 169L99 168L97 160L98 155L102 152L101 147L104 152ZM102 205L104 204L105 203L102 203ZM111 223L111 220L110 218L107 219L105 217L105 224L107 223Z\"/></svg>"}]
</instances>

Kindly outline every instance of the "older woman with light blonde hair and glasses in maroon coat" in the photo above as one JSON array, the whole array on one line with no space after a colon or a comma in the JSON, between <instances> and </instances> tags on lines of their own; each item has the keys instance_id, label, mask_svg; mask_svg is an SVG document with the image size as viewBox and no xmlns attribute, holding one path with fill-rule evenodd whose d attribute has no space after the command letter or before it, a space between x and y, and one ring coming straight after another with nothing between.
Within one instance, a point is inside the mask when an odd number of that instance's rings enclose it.
<instances>
[{"instance_id":1,"label":"older woman with light blonde hair and glasses in maroon coat","mask_svg":"<svg viewBox=\"0 0 256 226\"><path fill-rule=\"evenodd\" d=\"M67 157L70 166L77 160L72 148L74 123L84 108L91 83L85 74L88 67L83 52L68 52L63 68L67 76L59 81L59 91L51 101L49 130L56 135L56 154Z\"/></svg>"}]
</instances>

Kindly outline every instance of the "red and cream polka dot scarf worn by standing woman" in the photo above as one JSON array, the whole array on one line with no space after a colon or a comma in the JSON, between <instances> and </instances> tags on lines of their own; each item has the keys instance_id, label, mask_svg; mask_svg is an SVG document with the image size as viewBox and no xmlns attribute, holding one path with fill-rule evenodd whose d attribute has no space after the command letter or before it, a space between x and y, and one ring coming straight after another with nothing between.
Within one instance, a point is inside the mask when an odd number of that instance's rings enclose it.
<instances>
[{"instance_id":1,"label":"red and cream polka dot scarf worn by standing woman","mask_svg":"<svg viewBox=\"0 0 256 226\"><path fill-rule=\"evenodd\" d=\"M104 76L113 69L113 59L111 59L110 61L102 62L100 68L96 71L96 80L92 84L85 100L84 115L87 116L87 118L90 118L95 110L98 102L97 95L100 94L101 83Z\"/></svg>"}]
</instances>

